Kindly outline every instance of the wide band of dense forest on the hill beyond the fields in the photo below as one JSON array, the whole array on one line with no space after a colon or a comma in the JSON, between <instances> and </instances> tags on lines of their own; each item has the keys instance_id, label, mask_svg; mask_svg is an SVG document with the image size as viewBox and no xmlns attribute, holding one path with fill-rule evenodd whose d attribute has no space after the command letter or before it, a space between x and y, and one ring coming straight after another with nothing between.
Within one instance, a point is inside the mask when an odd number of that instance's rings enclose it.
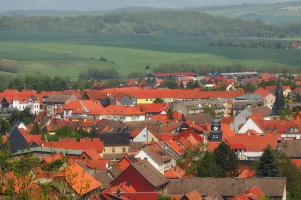
<instances>
[{"instance_id":1,"label":"wide band of dense forest on the hill beyond the fields","mask_svg":"<svg viewBox=\"0 0 301 200\"><path fill-rule=\"evenodd\" d=\"M74 17L1 17L0 30L55 33L157 34L178 36L285 38L301 33L301 22L285 26L261 20L212 16L194 11L153 11Z\"/></svg>"}]
</instances>

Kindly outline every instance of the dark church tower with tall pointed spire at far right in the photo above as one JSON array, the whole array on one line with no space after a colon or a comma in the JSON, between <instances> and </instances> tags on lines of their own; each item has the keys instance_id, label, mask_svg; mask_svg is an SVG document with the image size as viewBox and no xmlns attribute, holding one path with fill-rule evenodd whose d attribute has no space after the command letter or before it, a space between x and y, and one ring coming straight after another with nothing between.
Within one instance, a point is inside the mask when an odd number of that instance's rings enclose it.
<instances>
[{"instance_id":1,"label":"dark church tower with tall pointed spire at far right","mask_svg":"<svg viewBox=\"0 0 301 200\"><path fill-rule=\"evenodd\" d=\"M270 113L270 119L276 120L281 119L281 116L278 114L278 110L284 110L288 107L288 103L284 102L284 95L283 95L283 89L282 89L282 83L281 83L281 75L279 74L278 78L278 84L276 87L276 99L272 107L272 111Z\"/></svg>"}]
</instances>

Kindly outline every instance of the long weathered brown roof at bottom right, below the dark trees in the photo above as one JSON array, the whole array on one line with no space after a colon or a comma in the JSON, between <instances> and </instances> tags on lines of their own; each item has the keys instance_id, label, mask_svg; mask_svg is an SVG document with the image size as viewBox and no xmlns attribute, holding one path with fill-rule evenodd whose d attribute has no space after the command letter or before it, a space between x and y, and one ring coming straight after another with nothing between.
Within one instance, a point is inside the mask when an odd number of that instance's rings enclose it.
<instances>
[{"instance_id":1,"label":"long weathered brown roof at bottom right, below the dark trees","mask_svg":"<svg viewBox=\"0 0 301 200\"><path fill-rule=\"evenodd\" d=\"M221 196L239 195L257 186L264 195L282 197L286 178L178 178L169 179L166 194L186 194L196 189L202 196L218 192Z\"/></svg>"}]
</instances>

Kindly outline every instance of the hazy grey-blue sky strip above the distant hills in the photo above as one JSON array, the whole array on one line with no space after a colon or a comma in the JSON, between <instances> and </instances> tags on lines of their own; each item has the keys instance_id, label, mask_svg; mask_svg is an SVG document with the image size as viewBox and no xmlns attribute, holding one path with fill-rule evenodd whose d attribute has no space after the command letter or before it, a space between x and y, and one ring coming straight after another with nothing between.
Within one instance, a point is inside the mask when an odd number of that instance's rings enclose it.
<instances>
[{"instance_id":1,"label":"hazy grey-blue sky strip above the distant hills","mask_svg":"<svg viewBox=\"0 0 301 200\"><path fill-rule=\"evenodd\" d=\"M195 7L246 3L268 3L291 0L0 0L0 10L60 9L110 10L122 7Z\"/></svg>"}]
</instances>

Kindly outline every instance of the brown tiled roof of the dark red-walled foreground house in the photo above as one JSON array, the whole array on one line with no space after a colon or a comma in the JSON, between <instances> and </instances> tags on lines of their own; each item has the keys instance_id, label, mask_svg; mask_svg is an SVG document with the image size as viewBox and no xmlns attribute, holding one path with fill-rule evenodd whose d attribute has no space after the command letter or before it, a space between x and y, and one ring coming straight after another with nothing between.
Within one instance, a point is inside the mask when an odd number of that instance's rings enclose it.
<instances>
[{"instance_id":1,"label":"brown tiled roof of the dark red-walled foreground house","mask_svg":"<svg viewBox=\"0 0 301 200\"><path fill-rule=\"evenodd\" d=\"M132 165L147 181L149 181L155 187L168 182L168 179L146 159L133 162L130 165Z\"/></svg>"}]
</instances>

